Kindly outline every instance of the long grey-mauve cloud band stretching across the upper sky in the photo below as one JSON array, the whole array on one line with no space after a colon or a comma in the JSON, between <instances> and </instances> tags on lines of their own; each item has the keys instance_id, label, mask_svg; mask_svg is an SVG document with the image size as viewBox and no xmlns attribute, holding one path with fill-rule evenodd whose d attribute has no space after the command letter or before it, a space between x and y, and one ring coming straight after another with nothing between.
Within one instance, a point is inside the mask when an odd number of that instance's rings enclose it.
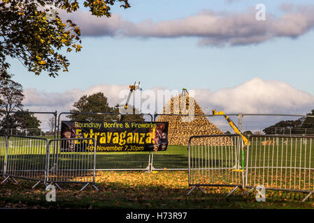
<instances>
[{"instance_id":1,"label":"long grey-mauve cloud band stretching across the upper sky","mask_svg":"<svg viewBox=\"0 0 314 223\"><path fill-rule=\"evenodd\" d=\"M256 10L242 13L204 10L197 15L176 20L139 23L123 20L119 15L95 17L90 12L62 13L82 29L84 36L180 38L197 37L199 45L252 45L273 38L297 38L314 27L314 6L282 4L283 15L266 14L266 21L255 19Z\"/></svg>"}]
</instances>

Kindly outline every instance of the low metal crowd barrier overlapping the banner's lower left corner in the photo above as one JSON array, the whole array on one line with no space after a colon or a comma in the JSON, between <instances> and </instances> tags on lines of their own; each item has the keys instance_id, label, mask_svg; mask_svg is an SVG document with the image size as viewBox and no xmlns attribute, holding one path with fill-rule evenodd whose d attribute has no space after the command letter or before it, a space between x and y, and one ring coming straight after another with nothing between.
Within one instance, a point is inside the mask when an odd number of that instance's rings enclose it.
<instances>
[{"instance_id":1,"label":"low metal crowd barrier overlapping the banner's lower left corner","mask_svg":"<svg viewBox=\"0 0 314 223\"><path fill-rule=\"evenodd\" d=\"M70 143L76 141L76 144ZM85 139L51 139L48 146L47 183L95 183L97 142Z\"/></svg>"}]
</instances>

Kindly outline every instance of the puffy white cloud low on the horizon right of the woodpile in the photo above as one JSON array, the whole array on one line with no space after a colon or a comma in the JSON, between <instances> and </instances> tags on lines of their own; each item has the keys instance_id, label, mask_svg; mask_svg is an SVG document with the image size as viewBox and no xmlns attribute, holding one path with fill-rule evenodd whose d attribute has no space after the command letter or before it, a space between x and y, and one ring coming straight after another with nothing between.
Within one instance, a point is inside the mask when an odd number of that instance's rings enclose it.
<instances>
[{"instance_id":1,"label":"puffy white cloud low on the horizon right of the woodpile","mask_svg":"<svg viewBox=\"0 0 314 223\"><path fill-rule=\"evenodd\" d=\"M229 113L306 114L314 109L314 95L274 80L251 79L215 92L197 89L199 103Z\"/></svg>"}]
</instances>

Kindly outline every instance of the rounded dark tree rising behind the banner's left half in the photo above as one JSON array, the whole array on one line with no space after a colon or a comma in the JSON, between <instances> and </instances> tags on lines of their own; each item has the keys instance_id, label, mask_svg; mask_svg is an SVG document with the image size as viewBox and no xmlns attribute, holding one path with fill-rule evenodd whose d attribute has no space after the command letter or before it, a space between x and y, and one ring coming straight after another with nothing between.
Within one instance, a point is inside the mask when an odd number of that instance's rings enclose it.
<instances>
[{"instance_id":1,"label":"rounded dark tree rising behind the banner's left half","mask_svg":"<svg viewBox=\"0 0 314 223\"><path fill-rule=\"evenodd\" d=\"M70 112L92 112L92 113L117 113L115 108L108 105L108 98L102 92L92 95L83 95L77 102L74 102ZM71 121L117 121L117 114L70 114L67 116Z\"/></svg>"}]
</instances>

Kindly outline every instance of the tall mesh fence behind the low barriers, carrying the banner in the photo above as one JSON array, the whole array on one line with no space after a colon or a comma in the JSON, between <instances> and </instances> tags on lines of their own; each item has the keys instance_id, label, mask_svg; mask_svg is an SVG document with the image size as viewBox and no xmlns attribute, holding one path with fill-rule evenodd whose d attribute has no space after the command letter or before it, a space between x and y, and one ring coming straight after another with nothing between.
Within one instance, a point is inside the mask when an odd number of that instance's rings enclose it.
<instances>
[{"instance_id":1,"label":"tall mesh fence behind the low barriers, carrying the banner","mask_svg":"<svg viewBox=\"0 0 314 223\"><path fill-rule=\"evenodd\" d=\"M174 112L174 111L173 111ZM189 122L183 123L183 125L179 126L179 122L183 120L190 120L187 116L190 114L116 114L116 113L95 113L95 112L0 112L0 116L3 115L12 115L17 117L28 117L28 116L36 116L38 120L41 120L41 125L39 133L49 130L46 132L47 134L52 134L48 139L56 139L59 138L59 131L61 128L61 121L64 120L74 120L74 121L135 121L135 120L145 120L145 121L171 121L171 126L175 126L176 131L169 132L169 136L171 137L179 137L175 143L169 146L167 151L157 152L157 153L97 153L97 164L96 169L101 171L116 171L116 170L187 170L188 162L187 162L187 151L185 150L185 146L187 145L187 141L191 135L191 132L194 132L196 129L200 129L204 124L204 121L209 121L210 125L215 125L218 129L222 131L216 130L213 127L213 131L209 132L210 134L222 134L222 132L232 132L233 130L230 128L229 124L224 120L223 115L213 115L213 114L197 114L192 115L192 117L196 118L197 125L187 125ZM252 134L255 132L257 134L257 130L263 130L265 127L272 125L274 121L283 121L287 118L301 118L306 117L304 115L294 115L294 114L226 114L229 116L234 123L238 123L238 128L240 130L243 129L243 132L246 130ZM272 117L272 118L269 118ZM307 116L311 117L311 116ZM134 119L135 118L135 119ZM203 124L202 124L203 123ZM263 126L261 124L264 124ZM6 128L13 128L12 126L5 126ZM29 126L30 127L30 126ZM191 128L193 127L193 128ZM3 129L2 131L5 131ZM14 127L15 128L15 127ZM20 128L15 129L19 134L26 134L26 132L21 132ZM30 134L36 134L36 131L30 131ZM36 130L36 129L34 129ZM39 128L38 128L39 130ZM276 128L273 130L274 132L280 133L276 131ZM306 130L306 133L310 129ZM7 132L7 131L6 131ZM10 130L9 133L12 132ZM14 132L14 131L13 131ZM178 134L181 132L181 134ZM185 134L189 132L189 134ZM290 128L290 132L294 134L294 130ZM29 133L27 133L29 134ZM208 134L207 132L196 132L194 134ZM273 134L273 133L268 133ZM182 143L183 142L183 143ZM141 154L141 155L140 155Z\"/></svg>"}]
</instances>

